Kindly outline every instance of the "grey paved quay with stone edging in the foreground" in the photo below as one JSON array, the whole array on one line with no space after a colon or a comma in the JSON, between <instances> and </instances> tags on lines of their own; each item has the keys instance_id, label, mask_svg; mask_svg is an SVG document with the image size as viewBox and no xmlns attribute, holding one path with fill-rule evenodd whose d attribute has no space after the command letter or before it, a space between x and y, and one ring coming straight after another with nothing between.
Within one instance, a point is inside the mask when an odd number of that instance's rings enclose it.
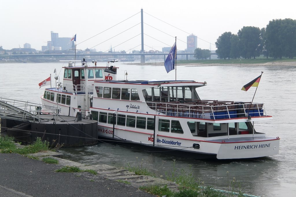
<instances>
[{"instance_id":1,"label":"grey paved quay with stone edging in the foreground","mask_svg":"<svg viewBox=\"0 0 296 197\"><path fill-rule=\"evenodd\" d=\"M38 157L31 159L19 154L0 153L0 194L1 196L143 196L152 194L138 188L145 185L163 185L173 191L177 185L160 178L136 175L126 169L97 164L85 165L59 158L62 154L56 152L39 152L30 154ZM59 164L46 164L40 160L52 157ZM81 170L95 170L97 175L88 172L55 172L63 166L76 166ZM131 185L116 180L128 181Z\"/></svg>"}]
</instances>

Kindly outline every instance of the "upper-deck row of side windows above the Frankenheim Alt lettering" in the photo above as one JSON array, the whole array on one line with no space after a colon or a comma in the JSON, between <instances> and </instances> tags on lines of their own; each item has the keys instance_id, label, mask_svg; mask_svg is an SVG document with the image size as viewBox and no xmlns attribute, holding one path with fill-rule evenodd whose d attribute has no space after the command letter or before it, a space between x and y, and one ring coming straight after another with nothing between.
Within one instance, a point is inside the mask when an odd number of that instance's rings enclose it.
<instances>
[{"instance_id":1,"label":"upper-deck row of side windows above the Frankenheim Alt lettering","mask_svg":"<svg viewBox=\"0 0 296 197\"><path fill-rule=\"evenodd\" d=\"M140 100L137 89L111 88L96 86L96 94L99 98L112 98L121 100Z\"/></svg>"}]
</instances>

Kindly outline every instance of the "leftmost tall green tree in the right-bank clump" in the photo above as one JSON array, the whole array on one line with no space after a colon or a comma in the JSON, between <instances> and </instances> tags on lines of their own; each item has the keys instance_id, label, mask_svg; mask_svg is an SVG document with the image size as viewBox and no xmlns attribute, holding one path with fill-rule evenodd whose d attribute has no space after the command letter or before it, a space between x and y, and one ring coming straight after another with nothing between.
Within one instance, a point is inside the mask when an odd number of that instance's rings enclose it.
<instances>
[{"instance_id":1,"label":"leftmost tall green tree in the right-bank clump","mask_svg":"<svg viewBox=\"0 0 296 197\"><path fill-rule=\"evenodd\" d=\"M217 42L215 42L215 45L217 47L216 53L219 58L223 59L230 59L230 50L231 50L231 37L233 34L231 32L224 32L219 38L217 39Z\"/></svg>"}]
</instances>

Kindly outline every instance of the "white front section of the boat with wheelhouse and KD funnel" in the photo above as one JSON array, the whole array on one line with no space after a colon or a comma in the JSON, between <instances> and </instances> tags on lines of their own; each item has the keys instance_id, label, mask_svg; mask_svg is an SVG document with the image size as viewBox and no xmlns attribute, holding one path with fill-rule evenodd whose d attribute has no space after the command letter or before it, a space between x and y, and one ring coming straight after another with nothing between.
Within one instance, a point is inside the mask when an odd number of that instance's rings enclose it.
<instances>
[{"instance_id":1,"label":"white front section of the boat with wheelhouse and KD funnel","mask_svg":"<svg viewBox=\"0 0 296 197\"><path fill-rule=\"evenodd\" d=\"M92 99L94 82L98 80L116 80L118 67L108 61L106 66L97 66L96 61L88 64L83 61L67 61L63 66L63 81L59 82L59 76L55 76L55 86L46 88L41 102L44 108L59 108L59 115L66 116L89 116L90 100Z\"/></svg>"}]
</instances>

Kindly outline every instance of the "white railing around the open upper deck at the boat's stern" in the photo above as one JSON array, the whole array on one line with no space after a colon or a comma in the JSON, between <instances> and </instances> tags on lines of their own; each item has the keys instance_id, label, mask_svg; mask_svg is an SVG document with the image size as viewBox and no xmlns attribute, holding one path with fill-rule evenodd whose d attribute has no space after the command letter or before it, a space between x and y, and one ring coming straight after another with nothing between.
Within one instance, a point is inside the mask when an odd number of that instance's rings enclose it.
<instances>
[{"instance_id":1,"label":"white railing around the open upper deck at the boat's stern","mask_svg":"<svg viewBox=\"0 0 296 197\"><path fill-rule=\"evenodd\" d=\"M209 120L248 116L266 116L263 103L190 100L191 102L146 102L149 108L168 116L202 118Z\"/></svg>"}]
</instances>

